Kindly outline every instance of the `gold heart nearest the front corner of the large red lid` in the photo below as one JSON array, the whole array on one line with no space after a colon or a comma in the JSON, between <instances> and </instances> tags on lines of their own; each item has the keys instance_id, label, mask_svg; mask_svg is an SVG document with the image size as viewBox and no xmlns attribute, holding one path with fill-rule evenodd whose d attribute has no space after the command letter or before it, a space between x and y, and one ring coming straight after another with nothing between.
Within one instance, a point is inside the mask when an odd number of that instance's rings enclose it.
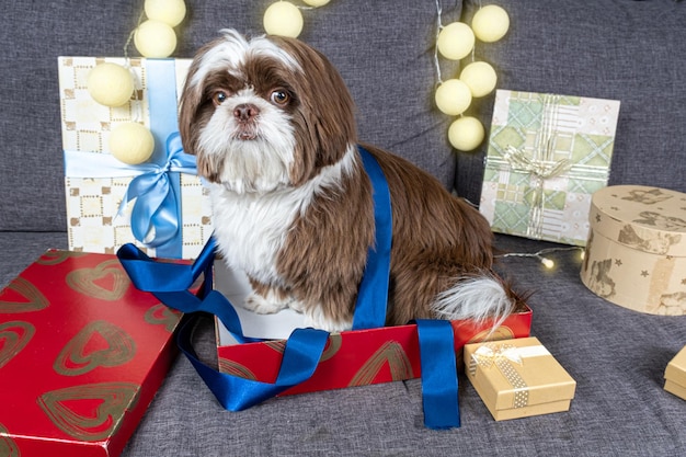
<instances>
[{"instance_id":1,"label":"gold heart nearest the front corner of the large red lid","mask_svg":"<svg viewBox=\"0 0 686 457\"><path fill-rule=\"evenodd\" d=\"M96 442L112 435L124 413L135 407L139 390L132 382L90 384L45 392L37 402L67 435Z\"/></svg>"}]
</instances>

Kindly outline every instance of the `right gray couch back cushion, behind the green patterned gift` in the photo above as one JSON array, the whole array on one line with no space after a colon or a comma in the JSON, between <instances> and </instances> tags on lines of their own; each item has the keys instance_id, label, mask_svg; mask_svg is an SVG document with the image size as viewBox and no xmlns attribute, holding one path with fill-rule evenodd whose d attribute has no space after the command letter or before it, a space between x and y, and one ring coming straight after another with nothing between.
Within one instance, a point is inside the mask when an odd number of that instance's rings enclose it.
<instances>
[{"instance_id":1,"label":"right gray couch back cushion, behind the green patterned gift","mask_svg":"<svg viewBox=\"0 0 686 457\"><path fill-rule=\"evenodd\" d=\"M480 1L465 1L470 22ZM621 101L610 184L686 192L686 4L672 0L500 1L508 34L477 43L498 87ZM490 125L493 95L473 113ZM456 187L478 202L485 145L458 155Z\"/></svg>"}]
</instances>

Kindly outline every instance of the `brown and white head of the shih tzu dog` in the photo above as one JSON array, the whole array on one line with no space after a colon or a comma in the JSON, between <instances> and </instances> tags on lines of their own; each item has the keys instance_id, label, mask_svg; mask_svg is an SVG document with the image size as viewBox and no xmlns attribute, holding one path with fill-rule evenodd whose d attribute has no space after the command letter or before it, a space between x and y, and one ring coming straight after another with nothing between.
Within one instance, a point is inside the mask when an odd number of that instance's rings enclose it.
<instances>
[{"instance_id":1,"label":"brown and white head of the shih tzu dog","mask_svg":"<svg viewBox=\"0 0 686 457\"><path fill-rule=\"evenodd\" d=\"M299 186L355 141L353 102L321 54L297 39L235 31L203 47L179 129L198 173L236 193Z\"/></svg>"}]
</instances>

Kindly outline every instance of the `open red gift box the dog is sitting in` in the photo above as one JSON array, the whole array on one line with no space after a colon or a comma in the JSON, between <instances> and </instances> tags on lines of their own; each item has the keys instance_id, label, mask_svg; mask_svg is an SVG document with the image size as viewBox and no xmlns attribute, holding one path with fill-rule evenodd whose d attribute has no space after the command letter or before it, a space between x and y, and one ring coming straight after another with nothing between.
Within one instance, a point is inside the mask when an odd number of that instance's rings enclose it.
<instances>
[{"instance_id":1,"label":"open red gift box the dog is sitting in","mask_svg":"<svg viewBox=\"0 0 686 457\"><path fill-rule=\"evenodd\" d=\"M247 279L240 273L215 262L215 284L229 300L238 305L249 292ZM290 327L298 327L295 313L256 317L235 306L247 336L265 338L268 333L284 338ZM279 316L281 315L281 316ZM287 322L282 328L282 323ZM286 328L286 325L290 325ZM467 343L529 336L531 310L525 308L507 317L491 332L492 322L453 321L457 366L461 367L462 347ZM266 330L265 330L266 329ZM285 340L235 344L235 340L217 321L217 354L219 370L263 382L274 382L281 367ZM415 324L384 327L332 333L324 353L311 378L282 395L317 390L340 389L353 386L389 382L421 376L420 346Z\"/></svg>"}]
</instances>

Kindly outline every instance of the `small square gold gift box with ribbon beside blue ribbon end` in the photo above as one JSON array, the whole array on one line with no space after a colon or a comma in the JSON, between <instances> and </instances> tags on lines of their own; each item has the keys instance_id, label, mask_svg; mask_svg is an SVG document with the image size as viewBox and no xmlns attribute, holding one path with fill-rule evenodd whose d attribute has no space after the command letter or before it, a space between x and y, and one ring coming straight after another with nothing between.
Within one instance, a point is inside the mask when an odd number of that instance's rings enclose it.
<instances>
[{"instance_id":1,"label":"small square gold gift box with ribbon beside blue ribbon end","mask_svg":"<svg viewBox=\"0 0 686 457\"><path fill-rule=\"evenodd\" d=\"M467 377L496 421L568 411L576 381L537 338L465 345Z\"/></svg>"}]
</instances>

